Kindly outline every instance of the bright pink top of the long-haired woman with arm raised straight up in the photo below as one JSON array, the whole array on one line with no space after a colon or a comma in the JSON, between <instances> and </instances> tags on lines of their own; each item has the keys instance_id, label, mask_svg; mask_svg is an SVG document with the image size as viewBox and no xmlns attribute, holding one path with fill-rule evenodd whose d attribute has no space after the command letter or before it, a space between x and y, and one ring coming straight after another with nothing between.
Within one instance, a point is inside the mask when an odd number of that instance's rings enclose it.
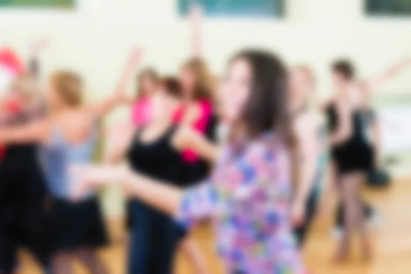
<instances>
[{"instance_id":1,"label":"bright pink top of the long-haired woman with arm raised straight up","mask_svg":"<svg viewBox=\"0 0 411 274\"><path fill-rule=\"evenodd\" d=\"M197 104L199 105L200 115L199 115L199 119L195 121L192 127L197 132L204 134L206 133L207 127L210 123L210 119L212 116L212 103L208 100L201 100L201 101L198 101ZM174 116L175 123L180 123L185 113L186 113L186 105L183 105L182 108L177 110ZM182 152L182 158L184 159L184 161L189 162L189 163L197 162L198 160L198 156L195 153L195 151L192 151L190 149L187 149L186 151Z\"/></svg>"}]
</instances>

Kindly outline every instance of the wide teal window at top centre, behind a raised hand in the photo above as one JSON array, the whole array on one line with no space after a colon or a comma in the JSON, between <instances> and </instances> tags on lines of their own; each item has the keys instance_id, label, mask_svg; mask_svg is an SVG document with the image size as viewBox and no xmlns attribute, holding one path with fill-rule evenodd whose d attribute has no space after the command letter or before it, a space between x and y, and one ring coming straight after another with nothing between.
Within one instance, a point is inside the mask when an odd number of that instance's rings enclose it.
<instances>
[{"instance_id":1,"label":"wide teal window at top centre, behind a raised hand","mask_svg":"<svg viewBox=\"0 0 411 274\"><path fill-rule=\"evenodd\" d=\"M285 0L197 0L206 16L282 17ZM179 14L186 15L192 0L179 0Z\"/></svg>"}]
</instances>

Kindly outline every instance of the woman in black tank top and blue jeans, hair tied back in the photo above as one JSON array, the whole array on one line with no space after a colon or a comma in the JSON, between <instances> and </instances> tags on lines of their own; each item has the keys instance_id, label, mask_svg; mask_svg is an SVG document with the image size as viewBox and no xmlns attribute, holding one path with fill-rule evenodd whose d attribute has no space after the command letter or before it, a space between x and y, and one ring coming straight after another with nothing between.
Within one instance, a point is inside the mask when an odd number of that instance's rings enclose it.
<instances>
[{"instance_id":1,"label":"woman in black tank top and blue jeans, hair tied back","mask_svg":"<svg viewBox=\"0 0 411 274\"><path fill-rule=\"evenodd\" d=\"M181 103L181 88L173 78L164 79L162 86L164 90L151 99L151 123L139 129L126 127L121 135L116 132L119 138L112 151L109 149L107 160L116 162L126 155L134 171L184 186L190 166L181 156L184 148L174 143L180 129L177 131L173 121ZM172 273L175 250L186 230L136 199L127 201L127 226L131 236L127 273Z\"/></svg>"}]
</instances>

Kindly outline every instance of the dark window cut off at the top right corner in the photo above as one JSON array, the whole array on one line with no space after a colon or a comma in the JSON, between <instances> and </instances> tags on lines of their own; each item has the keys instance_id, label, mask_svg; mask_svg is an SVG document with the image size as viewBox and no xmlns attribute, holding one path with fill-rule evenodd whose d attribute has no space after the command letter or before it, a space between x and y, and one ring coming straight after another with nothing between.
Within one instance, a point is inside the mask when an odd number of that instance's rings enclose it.
<instances>
[{"instance_id":1,"label":"dark window cut off at the top right corner","mask_svg":"<svg viewBox=\"0 0 411 274\"><path fill-rule=\"evenodd\" d=\"M410 0L364 0L366 13L371 15L410 15Z\"/></svg>"}]
</instances>

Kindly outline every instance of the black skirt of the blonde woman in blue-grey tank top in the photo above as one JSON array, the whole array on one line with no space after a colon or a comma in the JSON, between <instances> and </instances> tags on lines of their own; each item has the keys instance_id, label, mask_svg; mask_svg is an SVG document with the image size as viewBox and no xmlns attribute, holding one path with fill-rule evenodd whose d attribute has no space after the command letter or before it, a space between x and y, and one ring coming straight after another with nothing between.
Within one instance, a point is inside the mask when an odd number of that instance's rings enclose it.
<instances>
[{"instance_id":1,"label":"black skirt of the blonde woman in blue-grey tank top","mask_svg":"<svg viewBox=\"0 0 411 274\"><path fill-rule=\"evenodd\" d=\"M107 245L107 232L97 198L77 203L55 199L45 229L45 242L50 254Z\"/></svg>"}]
</instances>

